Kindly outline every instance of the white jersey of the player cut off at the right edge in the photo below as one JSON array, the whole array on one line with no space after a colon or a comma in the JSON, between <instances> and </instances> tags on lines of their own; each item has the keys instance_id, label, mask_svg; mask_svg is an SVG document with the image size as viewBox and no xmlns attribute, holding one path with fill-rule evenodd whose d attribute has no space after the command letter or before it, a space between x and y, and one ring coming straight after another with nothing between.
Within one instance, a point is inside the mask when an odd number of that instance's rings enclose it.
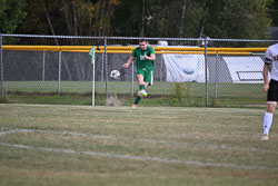
<instances>
[{"instance_id":1,"label":"white jersey of the player cut off at the right edge","mask_svg":"<svg viewBox=\"0 0 278 186\"><path fill-rule=\"evenodd\" d=\"M265 55L265 62L271 65L271 79L278 81L278 43L268 47Z\"/></svg>"}]
</instances>

